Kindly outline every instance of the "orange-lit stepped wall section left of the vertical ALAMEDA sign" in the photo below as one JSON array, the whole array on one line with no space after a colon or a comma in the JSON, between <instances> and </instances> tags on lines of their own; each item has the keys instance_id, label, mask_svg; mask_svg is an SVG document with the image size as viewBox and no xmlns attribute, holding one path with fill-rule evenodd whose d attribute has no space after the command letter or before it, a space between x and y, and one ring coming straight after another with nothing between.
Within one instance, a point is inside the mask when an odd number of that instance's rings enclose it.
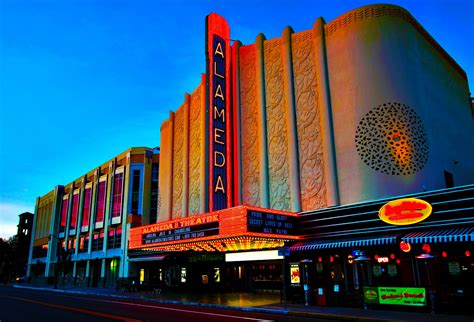
<instances>
[{"instance_id":1,"label":"orange-lit stepped wall section left of the vertical ALAMEDA sign","mask_svg":"<svg viewBox=\"0 0 474 322\"><path fill-rule=\"evenodd\" d=\"M206 211L205 81L161 126L158 221Z\"/></svg>"}]
</instances>

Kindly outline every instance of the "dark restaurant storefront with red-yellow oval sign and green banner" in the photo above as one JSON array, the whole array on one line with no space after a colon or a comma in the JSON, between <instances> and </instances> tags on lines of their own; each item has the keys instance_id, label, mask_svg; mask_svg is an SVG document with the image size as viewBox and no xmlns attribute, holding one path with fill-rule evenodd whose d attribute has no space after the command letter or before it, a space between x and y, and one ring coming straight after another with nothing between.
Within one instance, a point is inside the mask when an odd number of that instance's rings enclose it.
<instances>
[{"instance_id":1,"label":"dark restaurant storefront with red-yellow oval sign and green banner","mask_svg":"<svg viewBox=\"0 0 474 322\"><path fill-rule=\"evenodd\" d=\"M474 285L474 186L409 197L302 214L307 237L290 248L289 299L301 301L306 284L315 305L468 312ZM387 205L392 218L408 216L415 222L384 222L381 209ZM429 213L415 214L431 207Z\"/></svg>"}]
</instances>

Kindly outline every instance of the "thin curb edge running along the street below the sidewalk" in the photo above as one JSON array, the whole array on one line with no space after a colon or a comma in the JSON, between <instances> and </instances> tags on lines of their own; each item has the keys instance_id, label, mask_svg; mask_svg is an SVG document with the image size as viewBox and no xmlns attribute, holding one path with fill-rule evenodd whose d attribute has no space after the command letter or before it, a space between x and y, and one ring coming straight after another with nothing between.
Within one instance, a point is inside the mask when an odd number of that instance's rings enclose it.
<instances>
[{"instance_id":1,"label":"thin curb edge running along the street below the sidewalk","mask_svg":"<svg viewBox=\"0 0 474 322\"><path fill-rule=\"evenodd\" d=\"M221 304L211 304L211 303L199 303L199 302L180 302L176 300L164 300L164 299L155 299L155 298L143 298L135 297L129 295L118 295L118 294L106 294L106 293L94 293L94 292L85 292L85 291L74 291L74 290L64 290L64 289L52 289L46 287L34 287L34 286L23 286L23 285L12 285L14 288L19 289L29 289L35 291L48 291L56 292L63 294L81 294L81 295L93 295L100 297L112 297L112 298L121 298L121 299L133 299L140 300L144 302L151 303L162 303L162 304L176 304L176 305L186 305L186 306L196 306L196 307L209 307L214 309L222 310L234 310L234 311L244 311L244 312L255 312L255 313L267 313L267 314L281 314L281 315L290 315L290 316L301 316L301 317L312 317L312 318L323 318L329 320L343 320L343 321L368 321L368 322L388 322L388 321L397 321L393 319L380 319L372 318L367 316L354 316L354 315L336 315L330 313L322 312L311 312L311 311L301 311L288 308L268 308L268 307L240 307L240 306L228 306Z\"/></svg>"}]
</instances>

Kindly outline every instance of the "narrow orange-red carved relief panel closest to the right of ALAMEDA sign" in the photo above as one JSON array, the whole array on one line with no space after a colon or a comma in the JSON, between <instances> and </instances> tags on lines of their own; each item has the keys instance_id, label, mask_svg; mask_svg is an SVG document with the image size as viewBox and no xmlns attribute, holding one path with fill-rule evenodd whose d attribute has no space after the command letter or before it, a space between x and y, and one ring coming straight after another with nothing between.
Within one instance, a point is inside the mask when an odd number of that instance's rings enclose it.
<instances>
[{"instance_id":1,"label":"narrow orange-red carved relief panel closest to the right of ALAMEDA sign","mask_svg":"<svg viewBox=\"0 0 474 322\"><path fill-rule=\"evenodd\" d=\"M242 202L260 206L255 45L240 47Z\"/></svg>"}]
</instances>

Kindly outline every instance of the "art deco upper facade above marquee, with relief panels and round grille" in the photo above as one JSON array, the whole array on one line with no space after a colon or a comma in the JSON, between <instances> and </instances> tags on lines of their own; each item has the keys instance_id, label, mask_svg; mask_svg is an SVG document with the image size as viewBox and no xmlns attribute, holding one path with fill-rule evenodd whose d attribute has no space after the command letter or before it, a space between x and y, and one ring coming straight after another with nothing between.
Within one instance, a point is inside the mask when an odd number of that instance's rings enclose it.
<instances>
[{"instance_id":1,"label":"art deco upper facade above marquee, with relief panels and round grille","mask_svg":"<svg viewBox=\"0 0 474 322\"><path fill-rule=\"evenodd\" d=\"M229 36L216 15L207 26ZM446 176L473 182L466 74L404 9L367 6L226 46L228 70L206 49L207 75L162 124L160 221L215 210L216 140L226 149L221 208L299 212L440 189ZM211 88L216 74L224 94ZM225 133L212 128L224 120L216 95L228 104Z\"/></svg>"}]
</instances>

